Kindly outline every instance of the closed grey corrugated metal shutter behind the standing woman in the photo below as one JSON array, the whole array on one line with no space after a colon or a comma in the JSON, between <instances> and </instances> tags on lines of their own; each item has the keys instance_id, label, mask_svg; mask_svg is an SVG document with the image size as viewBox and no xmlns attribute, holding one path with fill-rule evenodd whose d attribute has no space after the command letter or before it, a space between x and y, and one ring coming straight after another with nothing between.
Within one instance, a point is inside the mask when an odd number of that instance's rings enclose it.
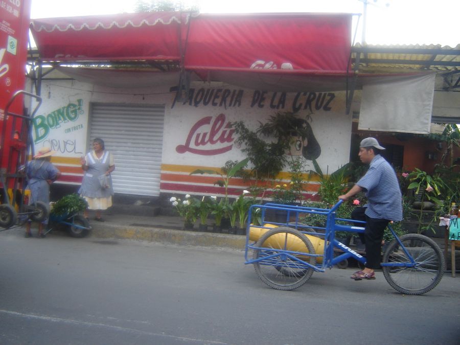
<instances>
[{"instance_id":1,"label":"closed grey corrugated metal shutter behind the standing woman","mask_svg":"<svg viewBox=\"0 0 460 345\"><path fill-rule=\"evenodd\" d=\"M101 138L115 158L116 193L159 196L165 107L93 103L90 142Z\"/></svg>"}]
</instances>

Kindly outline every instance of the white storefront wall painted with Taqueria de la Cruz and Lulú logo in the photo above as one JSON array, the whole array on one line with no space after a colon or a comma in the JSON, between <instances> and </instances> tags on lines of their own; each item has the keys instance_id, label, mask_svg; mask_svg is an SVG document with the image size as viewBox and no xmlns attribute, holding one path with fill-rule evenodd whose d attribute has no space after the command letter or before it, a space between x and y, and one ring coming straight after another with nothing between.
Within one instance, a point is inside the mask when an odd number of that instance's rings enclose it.
<instances>
[{"instance_id":1,"label":"white storefront wall painted with Taqueria de la Cruz and Lul\u00fa logo","mask_svg":"<svg viewBox=\"0 0 460 345\"><path fill-rule=\"evenodd\" d=\"M222 190L214 185L218 175L190 172L197 168L219 171L227 160L244 159L231 123L244 121L248 128L256 129L278 111L297 113L300 125L308 129L308 137L297 138L290 150L307 159L307 169L313 169L311 159L316 159L323 171L348 162L351 115L345 114L344 93L192 87L185 101L172 102L165 121L161 191L221 195ZM280 175L287 177L287 171ZM229 192L239 195L247 182L235 178L231 185ZM309 193L317 187L313 182Z\"/></svg>"}]
</instances>

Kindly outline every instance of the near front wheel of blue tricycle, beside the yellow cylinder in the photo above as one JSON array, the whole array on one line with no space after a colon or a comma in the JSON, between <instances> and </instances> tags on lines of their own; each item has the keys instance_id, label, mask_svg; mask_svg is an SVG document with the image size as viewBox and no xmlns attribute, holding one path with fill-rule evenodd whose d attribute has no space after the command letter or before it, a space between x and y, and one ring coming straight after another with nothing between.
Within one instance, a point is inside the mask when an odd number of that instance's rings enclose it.
<instances>
[{"instance_id":1,"label":"near front wheel of blue tricycle, beside the yellow cylinder","mask_svg":"<svg viewBox=\"0 0 460 345\"><path fill-rule=\"evenodd\" d=\"M315 254L313 245L296 229L274 228L257 241L256 247L260 249L254 249L252 257L262 260L254 263L254 269L259 278L273 289L294 290L304 285L313 274L316 258L306 255Z\"/></svg>"}]
</instances>

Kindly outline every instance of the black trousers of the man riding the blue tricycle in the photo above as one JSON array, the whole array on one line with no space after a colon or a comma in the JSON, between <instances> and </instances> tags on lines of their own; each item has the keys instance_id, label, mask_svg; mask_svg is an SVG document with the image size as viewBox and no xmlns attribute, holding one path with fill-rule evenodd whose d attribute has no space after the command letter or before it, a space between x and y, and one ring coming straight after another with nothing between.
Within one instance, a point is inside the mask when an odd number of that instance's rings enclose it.
<instances>
[{"instance_id":1,"label":"black trousers of the man riding the blue tricycle","mask_svg":"<svg viewBox=\"0 0 460 345\"><path fill-rule=\"evenodd\" d=\"M365 215L365 211L365 207L358 207L353 210L351 218L366 222L364 234L359 234L366 247L365 267L376 269L380 267L383 233L389 220L368 217ZM362 224L357 223L356 226L362 226Z\"/></svg>"}]
</instances>

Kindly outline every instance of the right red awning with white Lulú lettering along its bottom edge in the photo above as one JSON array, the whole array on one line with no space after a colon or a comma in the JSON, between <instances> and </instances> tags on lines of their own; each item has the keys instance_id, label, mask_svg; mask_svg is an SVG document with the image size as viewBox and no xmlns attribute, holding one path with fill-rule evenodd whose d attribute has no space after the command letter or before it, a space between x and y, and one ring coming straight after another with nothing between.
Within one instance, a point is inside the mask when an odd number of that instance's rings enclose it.
<instances>
[{"instance_id":1,"label":"right red awning with white Lul\u00fa lettering along its bottom edge","mask_svg":"<svg viewBox=\"0 0 460 345\"><path fill-rule=\"evenodd\" d=\"M205 14L192 18L187 70L343 74L351 51L351 14Z\"/></svg>"}]
</instances>

